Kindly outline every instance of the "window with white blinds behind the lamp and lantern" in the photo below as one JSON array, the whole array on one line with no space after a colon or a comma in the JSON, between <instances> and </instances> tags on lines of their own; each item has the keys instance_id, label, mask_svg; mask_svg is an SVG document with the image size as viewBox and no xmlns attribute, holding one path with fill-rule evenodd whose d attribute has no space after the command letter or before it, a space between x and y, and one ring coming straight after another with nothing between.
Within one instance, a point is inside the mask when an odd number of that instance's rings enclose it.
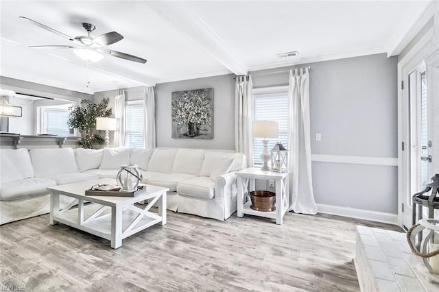
<instances>
[{"instance_id":1,"label":"window with white blinds behind the lamp and lantern","mask_svg":"<svg viewBox=\"0 0 439 292\"><path fill-rule=\"evenodd\" d=\"M268 141L268 151L277 141L288 148L288 87L255 88L253 90L253 121L276 121L279 137ZM253 139L253 164L262 165L263 144L259 138Z\"/></svg>"}]
</instances>

